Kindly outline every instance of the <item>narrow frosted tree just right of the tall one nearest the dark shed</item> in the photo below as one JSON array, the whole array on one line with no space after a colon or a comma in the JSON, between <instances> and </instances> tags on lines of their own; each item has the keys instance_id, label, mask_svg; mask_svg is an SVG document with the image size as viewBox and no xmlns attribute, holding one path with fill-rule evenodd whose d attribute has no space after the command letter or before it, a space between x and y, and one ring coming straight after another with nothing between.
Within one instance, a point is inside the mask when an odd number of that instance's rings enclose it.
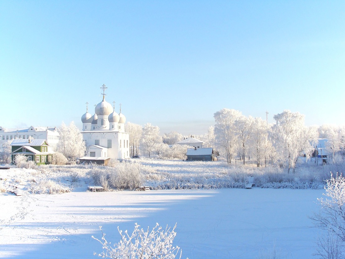
<instances>
[{"instance_id":1,"label":"narrow frosted tree just right of the tall one nearest the dark shed","mask_svg":"<svg viewBox=\"0 0 345 259\"><path fill-rule=\"evenodd\" d=\"M253 117L239 116L235 121L236 135L238 136L239 147L242 153L243 164L246 164L247 143L253 132Z\"/></svg>"}]
</instances>

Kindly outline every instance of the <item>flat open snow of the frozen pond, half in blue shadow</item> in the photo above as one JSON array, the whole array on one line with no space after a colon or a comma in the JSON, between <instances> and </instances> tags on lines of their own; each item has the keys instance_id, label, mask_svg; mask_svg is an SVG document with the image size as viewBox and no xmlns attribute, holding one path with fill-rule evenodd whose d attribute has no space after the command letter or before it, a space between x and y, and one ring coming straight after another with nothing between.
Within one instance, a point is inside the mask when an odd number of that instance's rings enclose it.
<instances>
[{"instance_id":1,"label":"flat open snow of the frozen pond, half in blue shadow","mask_svg":"<svg viewBox=\"0 0 345 259\"><path fill-rule=\"evenodd\" d=\"M214 165L209 171L217 170ZM25 178L25 174L29 176ZM37 175L19 169L0 172L0 178L20 186L27 186ZM174 244L182 248L182 258L189 259L261 259L273 258L274 252L276 258L313 258L315 238L321 234L308 217L318 211L316 199L323 190L92 193L85 191L90 179L71 183L65 176L63 181L74 186L72 192L0 194L1 258L97 258L93 253L100 253L102 247L91 236L101 238L99 226L108 241L117 243L117 227L132 232L135 222L145 229L154 227L156 222L171 227L177 223Z\"/></svg>"}]
</instances>

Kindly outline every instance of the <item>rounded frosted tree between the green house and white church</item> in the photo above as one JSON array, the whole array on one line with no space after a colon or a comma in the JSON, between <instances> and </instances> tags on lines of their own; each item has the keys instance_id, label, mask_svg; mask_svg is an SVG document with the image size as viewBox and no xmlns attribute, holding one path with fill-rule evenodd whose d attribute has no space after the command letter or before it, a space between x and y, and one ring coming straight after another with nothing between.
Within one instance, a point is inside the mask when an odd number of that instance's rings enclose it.
<instances>
[{"instance_id":1,"label":"rounded frosted tree between the green house and white church","mask_svg":"<svg viewBox=\"0 0 345 259\"><path fill-rule=\"evenodd\" d=\"M67 157L69 161L75 161L85 155L85 142L74 122L71 122L68 126L62 122L58 132L60 134L58 152Z\"/></svg>"}]
</instances>

